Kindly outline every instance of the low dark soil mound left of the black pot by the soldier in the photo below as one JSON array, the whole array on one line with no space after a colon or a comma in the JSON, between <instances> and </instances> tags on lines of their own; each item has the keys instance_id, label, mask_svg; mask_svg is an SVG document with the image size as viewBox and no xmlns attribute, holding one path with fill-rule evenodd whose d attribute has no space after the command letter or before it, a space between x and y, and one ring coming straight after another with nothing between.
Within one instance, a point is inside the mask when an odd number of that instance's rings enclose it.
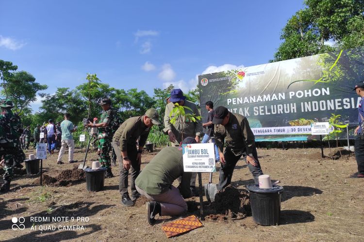
<instances>
[{"instance_id":1,"label":"low dark soil mound left of the black pot by the soldier","mask_svg":"<svg viewBox=\"0 0 364 242\"><path fill-rule=\"evenodd\" d=\"M71 186L82 181L85 181L86 175L82 169L73 168L63 170L57 177L43 175L43 184L50 186ZM40 184L40 178L33 182L33 184Z\"/></svg>"}]
</instances>

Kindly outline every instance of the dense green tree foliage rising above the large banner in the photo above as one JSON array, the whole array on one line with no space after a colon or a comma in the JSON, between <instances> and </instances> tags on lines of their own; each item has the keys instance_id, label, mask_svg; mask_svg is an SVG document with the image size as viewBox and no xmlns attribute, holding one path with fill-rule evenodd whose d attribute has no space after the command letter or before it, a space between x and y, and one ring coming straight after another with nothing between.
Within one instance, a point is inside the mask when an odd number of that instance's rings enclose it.
<instances>
[{"instance_id":1,"label":"dense green tree foliage rising above the large banner","mask_svg":"<svg viewBox=\"0 0 364 242\"><path fill-rule=\"evenodd\" d=\"M364 0L305 0L281 32L273 61L364 45ZM329 41L334 45L327 44Z\"/></svg>"}]
</instances>

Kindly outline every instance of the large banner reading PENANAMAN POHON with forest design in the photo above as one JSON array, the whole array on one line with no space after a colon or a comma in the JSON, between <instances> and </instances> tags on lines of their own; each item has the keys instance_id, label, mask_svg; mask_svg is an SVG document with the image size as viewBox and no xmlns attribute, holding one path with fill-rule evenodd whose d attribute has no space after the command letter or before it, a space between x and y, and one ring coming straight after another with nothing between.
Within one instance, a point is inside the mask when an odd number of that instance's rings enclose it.
<instances>
[{"instance_id":1,"label":"large banner reading PENANAMAN POHON with forest design","mask_svg":"<svg viewBox=\"0 0 364 242\"><path fill-rule=\"evenodd\" d=\"M247 117L256 141L317 139L311 123L326 121L349 121L352 138L360 101L353 88L360 81L364 47L201 75L202 117L211 100ZM346 136L346 128L335 128L325 138Z\"/></svg>"}]
</instances>

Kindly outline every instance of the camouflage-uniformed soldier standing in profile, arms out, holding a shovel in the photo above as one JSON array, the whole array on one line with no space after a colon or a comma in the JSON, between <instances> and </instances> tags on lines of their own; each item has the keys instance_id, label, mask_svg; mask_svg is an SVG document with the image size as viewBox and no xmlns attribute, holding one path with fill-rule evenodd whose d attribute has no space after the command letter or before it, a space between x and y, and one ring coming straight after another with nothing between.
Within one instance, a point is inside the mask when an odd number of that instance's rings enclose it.
<instances>
[{"instance_id":1,"label":"camouflage-uniformed soldier standing in profile, arms out, holding a shovel","mask_svg":"<svg viewBox=\"0 0 364 242\"><path fill-rule=\"evenodd\" d=\"M105 177L111 178L114 177L111 172L111 159L110 159L110 151L111 141L113 138L113 130L112 124L114 122L114 111L111 109L111 100L109 98L104 98L99 102L102 109L104 110L101 114L101 118L99 123L94 124L89 122L85 125L85 127L90 128L98 128L98 139L99 139L99 155L100 155L100 166L106 167Z\"/></svg>"}]
</instances>

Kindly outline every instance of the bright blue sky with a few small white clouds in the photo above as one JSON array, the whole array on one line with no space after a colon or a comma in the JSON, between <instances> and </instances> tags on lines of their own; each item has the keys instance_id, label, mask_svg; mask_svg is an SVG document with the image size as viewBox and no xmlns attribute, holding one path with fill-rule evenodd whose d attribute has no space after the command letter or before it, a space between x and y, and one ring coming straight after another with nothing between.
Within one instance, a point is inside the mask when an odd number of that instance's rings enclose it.
<instances>
[{"instance_id":1,"label":"bright blue sky with a few small white clouds","mask_svg":"<svg viewBox=\"0 0 364 242\"><path fill-rule=\"evenodd\" d=\"M272 59L302 2L0 0L0 59L47 93L75 88L88 72L149 95L170 83L188 91L197 75Z\"/></svg>"}]
</instances>

